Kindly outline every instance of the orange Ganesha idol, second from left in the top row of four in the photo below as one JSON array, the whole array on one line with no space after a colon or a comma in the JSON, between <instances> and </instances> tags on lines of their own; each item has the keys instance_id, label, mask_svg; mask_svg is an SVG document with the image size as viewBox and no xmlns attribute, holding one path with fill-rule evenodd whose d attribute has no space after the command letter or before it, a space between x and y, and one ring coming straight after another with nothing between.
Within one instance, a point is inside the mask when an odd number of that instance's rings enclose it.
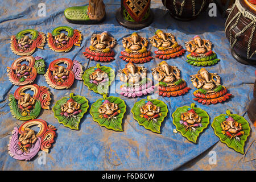
<instances>
[{"instance_id":1,"label":"orange Ganesha idol, second from left in the top row of four","mask_svg":"<svg viewBox=\"0 0 256 182\"><path fill-rule=\"evenodd\" d=\"M123 38L123 47L125 51L121 51L119 56L122 60L132 63L146 63L153 59L151 52L147 50L148 40L142 38L136 32L128 38Z\"/></svg>"}]
</instances>

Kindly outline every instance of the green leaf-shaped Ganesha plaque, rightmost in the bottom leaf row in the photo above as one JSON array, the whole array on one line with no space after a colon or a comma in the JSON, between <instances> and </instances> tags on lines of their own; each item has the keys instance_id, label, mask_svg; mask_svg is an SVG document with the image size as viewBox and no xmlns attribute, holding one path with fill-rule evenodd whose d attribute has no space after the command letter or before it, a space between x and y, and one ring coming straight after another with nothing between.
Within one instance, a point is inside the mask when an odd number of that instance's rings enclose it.
<instances>
[{"instance_id":1,"label":"green leaf-shaped Ganesha plaque, rightmost in the bottom leaf row","mask_svg":"<svg viewBox=\"0 0 256 182\"><path fill-rule=\"evenodd\" d=\"M226 114L221 114L213 119L212 127L222 143L244 154L243 147L250 135L250 126L245 118L231 114L227 110Z\"/></svg>"}]
</instances>

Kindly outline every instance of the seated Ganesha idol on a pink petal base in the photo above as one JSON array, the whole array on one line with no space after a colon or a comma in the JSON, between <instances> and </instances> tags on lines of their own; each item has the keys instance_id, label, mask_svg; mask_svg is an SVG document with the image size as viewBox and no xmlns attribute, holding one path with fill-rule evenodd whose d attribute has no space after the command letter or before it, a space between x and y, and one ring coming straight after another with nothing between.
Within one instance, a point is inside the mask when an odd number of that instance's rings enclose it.
<instances>
[{"instance_id":1,"label":"seated Ganesha idol on a pink petal base","mask_svg":"<svg viewBox=\"0 0 256 182\"><path fill-rule=\"evenodd\" d=\"M122 82L121 95L125 97L140 97L154 92L152 81L147 78L147 69L137 67L133 63L128 63L124 69L118 71L118 76Z\"/></svg>"}]
</instances>

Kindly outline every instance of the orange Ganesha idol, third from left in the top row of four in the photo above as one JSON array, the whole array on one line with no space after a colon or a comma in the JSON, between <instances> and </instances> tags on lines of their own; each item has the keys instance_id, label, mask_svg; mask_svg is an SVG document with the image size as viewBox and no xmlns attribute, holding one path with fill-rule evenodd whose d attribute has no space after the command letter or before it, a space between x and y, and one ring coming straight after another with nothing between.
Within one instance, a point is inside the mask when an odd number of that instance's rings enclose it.
<instances>
[{"instance_id":1,"label":"orange Ganesha idol, third from left in the top row of four","mask_svg":"<svg viewBox=\"0 0 256 182\"><path fill-rule=\"evenodd\" d=\"M185 52L185 49L176 42L174 35L165 33L162 30L155 32L155 35L150 38L150 43L152 46L158 48L158 50L155 51L155 57L159 59L178 57Z\"/></svg>"}]
</instances>

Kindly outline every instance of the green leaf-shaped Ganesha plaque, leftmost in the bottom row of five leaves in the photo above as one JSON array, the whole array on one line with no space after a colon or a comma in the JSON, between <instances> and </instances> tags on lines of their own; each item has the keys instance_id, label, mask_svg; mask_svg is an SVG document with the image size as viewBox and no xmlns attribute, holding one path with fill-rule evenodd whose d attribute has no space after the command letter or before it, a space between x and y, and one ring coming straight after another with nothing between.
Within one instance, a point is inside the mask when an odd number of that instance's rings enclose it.
<instances>
[{"instance_id":1,"label":"green leaf-shaped Ganesha plaque, leftmost in the bottom row of five leaves","mask_svg":"<svg viewBox=\"0 0 256 182\"><path fill-rule=\"evenodd\" d=\"M63 97L53 106L54 117L59 123L73 130L79 130L81 118L88 110L88 100L82 96L74 96L73 93L69 97Z\"/></svg>"}]
</instances>

